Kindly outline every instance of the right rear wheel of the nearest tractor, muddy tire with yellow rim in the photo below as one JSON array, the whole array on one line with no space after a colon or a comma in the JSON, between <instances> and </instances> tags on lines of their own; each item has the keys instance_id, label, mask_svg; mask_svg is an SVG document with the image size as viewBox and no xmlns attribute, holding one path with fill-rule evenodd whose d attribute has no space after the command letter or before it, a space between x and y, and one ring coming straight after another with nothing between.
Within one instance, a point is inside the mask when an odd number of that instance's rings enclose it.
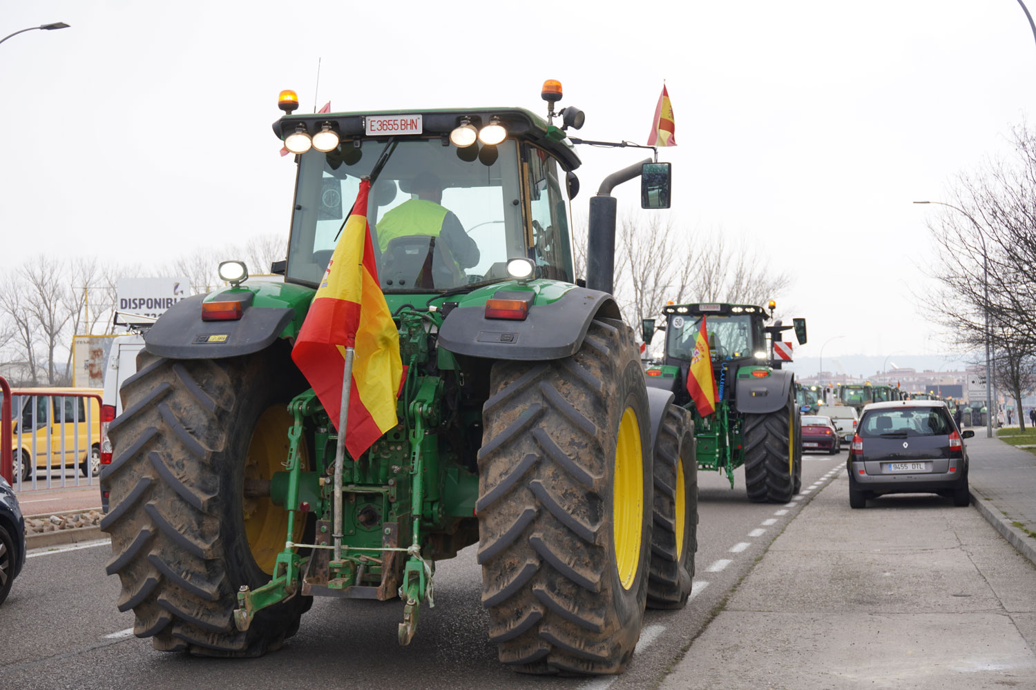
<instances>
[{"instance_id":1,"label":"right rear wheel of the nearest tractor, muddy tire with yellow rim","mask_svg":"<svg viewBox=\"0 0 1036 690\"><path fill-rule=\"evenodd\" d=\"M640 636L652 534L643 371L595 320L575 355L493 365L479 451L489 637L530 673L622 672Z\"/></svg>"}]
</instances>

